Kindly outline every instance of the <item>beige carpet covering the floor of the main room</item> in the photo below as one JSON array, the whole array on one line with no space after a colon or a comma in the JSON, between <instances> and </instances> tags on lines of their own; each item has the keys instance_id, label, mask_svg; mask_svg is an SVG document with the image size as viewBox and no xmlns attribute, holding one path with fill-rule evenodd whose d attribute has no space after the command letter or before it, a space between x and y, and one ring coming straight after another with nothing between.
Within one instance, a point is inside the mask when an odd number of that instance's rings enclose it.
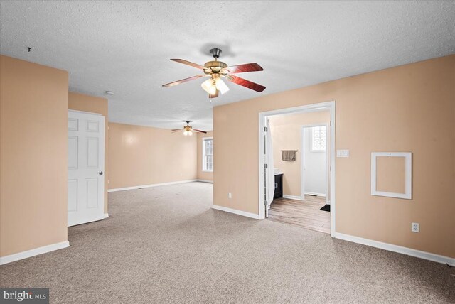
<instances>
[{"instance_id":1,"label":"beige carpet covering the floor of the main room","mask_svg":"<svg viewBox=\"0 0 455 304\"><path fill-rule=\"evenodd\" d=\"M212 185L109 193L70 247L0 267L51 303L455 303L455 268L210 209Z\"/></svg>"}]
</instances>

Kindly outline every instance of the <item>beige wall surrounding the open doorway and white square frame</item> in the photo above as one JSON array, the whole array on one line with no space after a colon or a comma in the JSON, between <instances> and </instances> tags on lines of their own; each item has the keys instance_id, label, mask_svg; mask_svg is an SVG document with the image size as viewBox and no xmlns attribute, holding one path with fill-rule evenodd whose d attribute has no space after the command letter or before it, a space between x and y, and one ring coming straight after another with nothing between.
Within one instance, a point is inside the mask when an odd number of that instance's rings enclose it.
<instances>
[{"instance_id":1,"label":"beige wall surrounding the open doorway and white square frame","mask_svg":"<svg viewBox=\"0 0 455 304\"><path fill-rule=\"evenodd\" d=\"M215 107L214 204L258 213L259 112L335 100L336 148L350 150L336 158L336 232L455 257L454 84L451 55ZM412 200L370 195L381 151L413 153Z\"/></svg>"}]
</instances>

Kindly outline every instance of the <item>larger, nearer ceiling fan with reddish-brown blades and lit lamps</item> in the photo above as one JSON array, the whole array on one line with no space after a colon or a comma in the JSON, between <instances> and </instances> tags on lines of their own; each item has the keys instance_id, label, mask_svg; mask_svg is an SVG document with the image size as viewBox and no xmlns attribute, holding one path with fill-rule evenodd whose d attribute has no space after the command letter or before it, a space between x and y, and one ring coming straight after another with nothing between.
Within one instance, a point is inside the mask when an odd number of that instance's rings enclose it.
<instances>
[{"instance_id":1,"label":"larger, nearer ceiling fan with reddish-brown blades and lit lamps","mask_svg":"<svg viewBox=\"0 0 455 304\"><path fill-rule=\"evenodd\" d=\"M208 61L204 65L198 65L197 63L191 63L183 59L171 59L172 61L176 61L177 63L183 63L184 65L190 65L191 67L196 67L197 69L203 70L204 75L196 75L182 80L169 82L166 83L166 85L163 85L163 87L173 87L174 85L179 85L183 82L195 80L200 77L210 77L210 79L205 80L205 82L203 82L202 85L200 86L205 90L205 92L208 92L209 98L215 98L218 97L218 92L224 94L225 92L229 91L229 87L221 79L223 77L229 80L230 82L234 82L237 85L242 85L243 87L247 87L248 89L253 89L256 92L264 91L265 87L262 85L258 85L257 83L251 82L250 80L245 80L243 78L231 75L242 72L262 71L263 69L260 65L258 65L257 63L246 63L244 65L228 66L222 61L218 61L218 58L220 57L221 54L221 50L219 48L211 49L210 54L213 55L213 58L215 58L215 60Z\"/></svg>"}]
</instances>

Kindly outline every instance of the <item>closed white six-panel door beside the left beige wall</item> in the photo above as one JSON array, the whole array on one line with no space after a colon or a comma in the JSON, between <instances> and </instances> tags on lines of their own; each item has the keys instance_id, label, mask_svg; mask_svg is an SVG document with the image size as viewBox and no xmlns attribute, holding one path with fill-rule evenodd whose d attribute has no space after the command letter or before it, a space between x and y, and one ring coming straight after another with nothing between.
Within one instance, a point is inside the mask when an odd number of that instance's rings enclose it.
<instances>
[{"instance_id":1,"label":"closed white six-panel door beside the left beige wall","mask_svg":"<svg viewBox=\"0 0 455 304\"><path fill-rule=\"evenodd\" d=\"M105 117L68 112L68 226L104 218Z\"/></svg>"}]
</instances>

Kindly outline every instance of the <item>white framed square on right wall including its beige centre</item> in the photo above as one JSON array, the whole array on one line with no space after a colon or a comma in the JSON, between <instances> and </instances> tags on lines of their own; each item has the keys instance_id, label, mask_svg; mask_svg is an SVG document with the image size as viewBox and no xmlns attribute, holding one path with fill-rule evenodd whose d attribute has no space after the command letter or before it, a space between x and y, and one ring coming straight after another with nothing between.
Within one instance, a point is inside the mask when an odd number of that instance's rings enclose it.
<instances>
[{"instance_id":1,"label":"white framed square on right wall including its beige centre","mask_svg":"<svg viewBox=\"0 0 455 304\"><path fill-rule=\"evenodd\" d=\"M387 158L390 161L386 162ZM380 185L380 180L388 181L388 185ZM412 153L371 153L371 195L412 199Z\"/></svg>"}]
</instances>

